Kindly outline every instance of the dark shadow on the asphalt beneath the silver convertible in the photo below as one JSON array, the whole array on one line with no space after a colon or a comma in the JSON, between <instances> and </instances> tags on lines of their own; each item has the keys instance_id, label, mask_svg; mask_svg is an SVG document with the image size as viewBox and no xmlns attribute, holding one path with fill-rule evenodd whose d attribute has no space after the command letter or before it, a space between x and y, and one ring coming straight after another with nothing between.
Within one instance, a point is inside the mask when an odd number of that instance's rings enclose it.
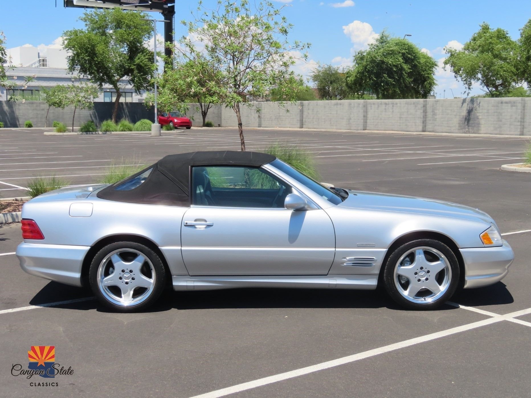
<instances>
[{"instance_id":1,"label":"dark shadow on the asphalt beneath the silver convertible","mask_svg":"<svg viewBox=\"0 0 531 398\"><path fill-rule=\"evenodd\" d=\"M47 304L91 297L89 288L76 288L57 282L49 282L30 301L30 305ZM463 290L452 298L466 306L511 304L514 299L506 285L498 282L490 287ZM54 305L98 312L113 312L97 300ZM323 290L323 289L227 289L211 291L175 292L167 289L160 299L146 309L147 313L165 312L171 309L226 309L226 308L388 308L408 310L398 306L385 292L378 290ZM438 310L457 309L444 305Z\"/></svg>"}]
</instances>

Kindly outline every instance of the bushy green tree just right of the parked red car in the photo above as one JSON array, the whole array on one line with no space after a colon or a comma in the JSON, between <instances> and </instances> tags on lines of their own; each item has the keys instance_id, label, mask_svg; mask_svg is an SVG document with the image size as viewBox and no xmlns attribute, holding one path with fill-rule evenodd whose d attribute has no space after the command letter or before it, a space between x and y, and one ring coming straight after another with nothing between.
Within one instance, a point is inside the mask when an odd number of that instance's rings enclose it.
<instances>
[{"instance_id":1,"label":"bushy green tree just right of the parked red car","mask_svg":"<svg viewBox=\"0 0 531 398\"><path fill-rule=\"evenodd\" d=\"M160 110L169 112L177 109L185 113L188 108L186 102L195 101L199 104L204 127L208 111L217 101L217 85L220 84L219 73L207 60L199 57L184 63L177 62L173 69L166 68L158 82L157 105ZM152 106L155 102L153 94L149 94L144 102Z\"/></svg>"}]
</instances>

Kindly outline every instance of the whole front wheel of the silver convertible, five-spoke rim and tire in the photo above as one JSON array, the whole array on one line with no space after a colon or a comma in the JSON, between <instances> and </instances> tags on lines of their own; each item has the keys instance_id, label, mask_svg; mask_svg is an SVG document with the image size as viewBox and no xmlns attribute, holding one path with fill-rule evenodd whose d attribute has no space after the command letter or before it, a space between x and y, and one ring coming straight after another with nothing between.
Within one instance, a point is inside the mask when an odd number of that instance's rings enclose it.
<instances>
[{"instance_id":1,"label":"whole front wheel of the silver convertible, five-spoke rim and tire","mask_svg":"<svg viewBox=\"0 0 531 398\"><path fill-rule=\"evenodd\" d=\"M452 297L459 284L459 263L440 241L419 239L397 248L383 270L389 296L403 307L435 309Z\"/></svg>"}]
</instances>

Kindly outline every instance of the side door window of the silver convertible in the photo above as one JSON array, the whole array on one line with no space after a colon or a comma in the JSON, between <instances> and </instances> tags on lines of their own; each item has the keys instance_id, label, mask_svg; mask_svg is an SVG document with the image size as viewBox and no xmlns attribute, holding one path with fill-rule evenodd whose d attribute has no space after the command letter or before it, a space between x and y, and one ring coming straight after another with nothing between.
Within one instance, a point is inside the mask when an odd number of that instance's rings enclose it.
<instances>
[{"instance_id":1,"label":"side door window of the silver convertible","mask_svg":"<svg viewBox=\"0 0 531 398\"><path fill-rule=\"evenodd\" d=\"M222 207L284 208L292 188L266 170L212 166L192 169L192 203Z\"/></svg>"}]
</instances>

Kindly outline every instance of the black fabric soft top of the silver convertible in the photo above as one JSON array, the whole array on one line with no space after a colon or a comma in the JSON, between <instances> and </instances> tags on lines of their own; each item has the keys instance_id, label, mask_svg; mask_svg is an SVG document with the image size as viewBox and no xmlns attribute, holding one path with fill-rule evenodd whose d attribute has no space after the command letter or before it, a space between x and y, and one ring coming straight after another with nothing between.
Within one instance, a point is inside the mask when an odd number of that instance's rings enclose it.
<instances>
[{"instance_id":1,"label":"black fabric soft top of the silver convertible","mask_svg":"<svg viewBox=\"0 0 531 398\"><path fill-rule=\"evenodd\" d=\"M154 165L101 189L99 198L118 202L190 205L190 170L193 166L249 166L260 167L275 160L262 152L210 151L167 155ZM115 188L152 169L147 180L129 191Z\"/></svg>"}]
</instances>

